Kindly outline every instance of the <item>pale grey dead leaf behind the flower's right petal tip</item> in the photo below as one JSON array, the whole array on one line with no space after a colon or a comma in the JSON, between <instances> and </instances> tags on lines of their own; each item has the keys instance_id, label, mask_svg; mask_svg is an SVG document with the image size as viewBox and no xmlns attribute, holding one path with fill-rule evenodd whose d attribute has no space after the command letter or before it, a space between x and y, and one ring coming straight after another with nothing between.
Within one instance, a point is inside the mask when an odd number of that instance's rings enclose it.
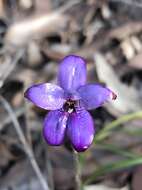
<instances>
[{"instance_id":1,"label":"pale grey dead leaf behind the flower's right petal tip","mask_svg":"<svg viewBox=\"0 0 142 190\"><path fill-rule=\"evenodd\" d=\"M122 83L101 53L96 52L94 59L99 80L117 94L117 99L111 102L112 107L121 114L141 110L142 101L138 90Z\"/></svg>"}]
</instances>

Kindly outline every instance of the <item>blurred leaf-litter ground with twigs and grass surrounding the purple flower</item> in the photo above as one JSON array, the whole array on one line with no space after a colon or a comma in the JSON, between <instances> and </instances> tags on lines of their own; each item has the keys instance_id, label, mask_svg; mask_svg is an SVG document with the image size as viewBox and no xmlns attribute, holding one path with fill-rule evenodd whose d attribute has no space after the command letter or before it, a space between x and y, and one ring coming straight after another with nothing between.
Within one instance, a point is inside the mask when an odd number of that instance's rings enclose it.
<instances>
[{"instance_id":1,"label":"blurred leaf-litter ground with twigs and grass surrounding the purple flower","mask_svg":"<svg viewBox=\"0 0 142 190\"><path fill-rule=\"evenodd\" d=\"M56 83L60 60L87 61L88 82L118 96L91 111L96 136L79 155L85 190L142 190L142 1L0 0L0 190L73 190L68 141L42 138L46 111L24 99Z\"/></svg>"}]
</instances>

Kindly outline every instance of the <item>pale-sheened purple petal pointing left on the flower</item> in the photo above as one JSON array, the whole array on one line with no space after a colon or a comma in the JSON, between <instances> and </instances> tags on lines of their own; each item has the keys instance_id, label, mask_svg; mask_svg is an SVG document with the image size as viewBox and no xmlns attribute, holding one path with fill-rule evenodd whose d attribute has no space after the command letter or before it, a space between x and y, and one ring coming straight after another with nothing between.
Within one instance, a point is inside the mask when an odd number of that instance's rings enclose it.
<instances>
[{"instance_id":1,"label":"pale-sheened purple petal pointing left on the flower","mask_svg":"<svg viewBox=\"0 0 142 190\"><path fill-rule=\"evenodd\" d=\"M59 109L65 102L63 89L50 83L31 86L25 92L25 97L36 106L47 110Z\"/></svg>"}]
</instances>

